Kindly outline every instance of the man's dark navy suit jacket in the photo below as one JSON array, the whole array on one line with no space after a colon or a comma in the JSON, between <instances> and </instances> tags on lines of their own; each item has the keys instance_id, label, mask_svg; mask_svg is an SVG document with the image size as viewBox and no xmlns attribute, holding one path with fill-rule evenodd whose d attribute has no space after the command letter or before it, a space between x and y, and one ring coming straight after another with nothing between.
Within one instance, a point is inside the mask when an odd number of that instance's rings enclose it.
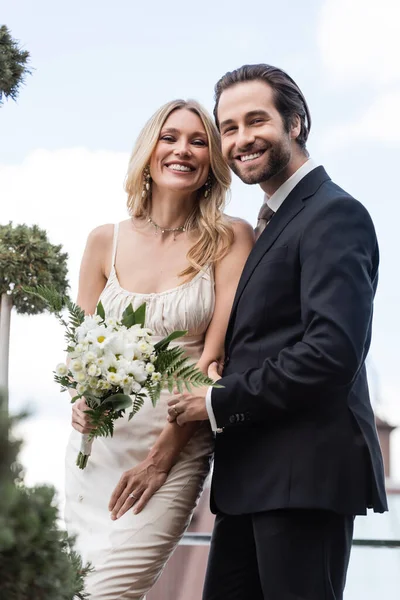
<instances>
[{"instance_id":1,"label":"man's dark navy suit jacket","mask_svg":"<svg viewBox=\"0 0 400 600\"><path fill-rule=\"evenodd\" d=\"M226 337L211 506L387 510L364 361L379 252L366 209L322 167L245 265Z\"/></svg>"}]
</instances>

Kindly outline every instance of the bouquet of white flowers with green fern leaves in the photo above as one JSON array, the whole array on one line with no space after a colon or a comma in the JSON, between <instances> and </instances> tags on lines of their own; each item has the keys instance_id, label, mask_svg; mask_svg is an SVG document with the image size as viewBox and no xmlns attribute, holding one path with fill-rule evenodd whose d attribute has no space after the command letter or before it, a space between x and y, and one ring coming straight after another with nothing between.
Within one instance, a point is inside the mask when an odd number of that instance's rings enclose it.
<instances>
[{"instance_id":1,"label":"bouquet of white flowers with green fern leaves","mask_svg":"<svg viewBox=\"0 0 400 600\"><path fill-rule=\"evenodd\" d=\"M114 421L130 410L129 419L149 397L153 406L167 387L190 392L191 386L215 385L184 355L182 348L170 342L186 331L174 331L154 343L152 331L144 326L146 304L133 310L127 306L120 320L107 316L101 302L96 314L85 315L67 296L52 288L25 288L40 297L65 328L67 361L56 366L54 380L61 390L73 389L75 402L85 398L93 429L82 434L76 464L87 465L93 440L112 436ZM63 317L67 308L68 320Z\"/></svg>"}]
</instances>

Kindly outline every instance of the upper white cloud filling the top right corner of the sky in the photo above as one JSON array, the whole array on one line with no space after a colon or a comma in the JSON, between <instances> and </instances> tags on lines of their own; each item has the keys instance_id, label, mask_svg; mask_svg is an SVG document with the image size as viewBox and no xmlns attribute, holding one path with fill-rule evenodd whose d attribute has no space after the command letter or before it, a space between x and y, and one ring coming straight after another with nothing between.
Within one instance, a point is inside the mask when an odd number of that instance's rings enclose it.
<instances>
[{"instance_id":1,"label":"upper white cloud filling the top right corner of the sky","mask_svg":"<svg viewBox=\"0 0 400 600\"><path fill-rule=\"evenodd\" d=\"M398 0L327 0L318 44L332 84L372 86L400 80Z\"/></svg>"}]
</instances>

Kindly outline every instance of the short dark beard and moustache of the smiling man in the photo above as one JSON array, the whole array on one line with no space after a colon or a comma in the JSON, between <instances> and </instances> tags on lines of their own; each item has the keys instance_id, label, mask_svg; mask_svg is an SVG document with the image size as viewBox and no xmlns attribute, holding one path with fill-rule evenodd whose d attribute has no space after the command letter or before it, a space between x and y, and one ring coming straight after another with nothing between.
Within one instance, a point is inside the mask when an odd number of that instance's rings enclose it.
<instances>
[{"instance_id":1,"label":"short dark beard and moustache of the smiling man","mask_svg":"<svg viewBox=\"0 0 400 600\"><path fill-rule=\"evenodd\" d=\"M283 141L270 144L267 148L250 148L248 153L253 154L262 150L266 151L263 155L264 161L257 166L246 166L246 163L241 164L236 159L229 161L230 168L243 183L254 185L268 181L268 179L275 177L275 175L283 171L289 164L291 158L290 145L285 144Z\"/></svg>"}]
</instances>

